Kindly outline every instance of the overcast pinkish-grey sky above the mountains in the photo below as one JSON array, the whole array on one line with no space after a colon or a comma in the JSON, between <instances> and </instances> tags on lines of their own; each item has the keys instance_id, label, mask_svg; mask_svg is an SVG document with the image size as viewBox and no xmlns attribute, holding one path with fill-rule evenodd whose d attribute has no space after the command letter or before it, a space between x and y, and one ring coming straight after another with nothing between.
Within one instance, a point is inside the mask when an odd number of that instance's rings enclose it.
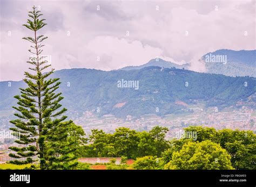
<instances>
[{"instance_id":1,"label":"overcast pinkish-grey sky above the mountains","mask_svg":"<svg viewBox=\"0 0 256 187\"><path fill-rule=\"evenodd\" d=\"M32 31L22 24L33 5L48 24L38 32L49 37L43 54L56 70L112 70L161 57L205 71L198 60L208 52L255 49L254 0L0 2L0 81L22 80L30 66L22 37Z\"/></svg>"}]
</instances>

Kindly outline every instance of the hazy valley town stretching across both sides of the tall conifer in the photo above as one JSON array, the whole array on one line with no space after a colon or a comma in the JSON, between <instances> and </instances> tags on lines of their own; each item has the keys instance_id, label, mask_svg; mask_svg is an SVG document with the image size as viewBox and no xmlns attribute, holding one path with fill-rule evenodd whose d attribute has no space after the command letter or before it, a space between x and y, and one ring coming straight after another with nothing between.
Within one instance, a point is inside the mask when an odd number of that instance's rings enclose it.
<instances>
[{"instance_id":1,"label":"hazy valley town stretching across both sides of the tall conifer","mask_svg":"<svg viewBox=\"0 0 256 187\"><path fill-rule=\"evenodd\" d=\"M166 134L167 139L178 138L177 134L187 126L205 126L214 127L217 130L228 128L231 130L251 130L256 132L256 111L253 110L250 103L238 102L236 107L229 107L225 110L219 110L218 107L208 107L203 104L196 106L187 106L184 113L167 114L158 116L157 114L146 114L140 118L127 115L125 119L117 118L112 114L106 114L102 117L97 116L97 111L84 111L81 114L78 111L69 111L69 116L75 124L83 127L86 135L91 134L92 129L103 130L107 133L113 133L116 128L127 127L136 131L150 131L154 126L165 126L169 129ZM10 146L21 146L14 142L13 138L3 136L9 132L11 124L9 120L14 118L14 111L0 112L0 163L11 160L8 156Z\"/></svg>"}]
</instances>

